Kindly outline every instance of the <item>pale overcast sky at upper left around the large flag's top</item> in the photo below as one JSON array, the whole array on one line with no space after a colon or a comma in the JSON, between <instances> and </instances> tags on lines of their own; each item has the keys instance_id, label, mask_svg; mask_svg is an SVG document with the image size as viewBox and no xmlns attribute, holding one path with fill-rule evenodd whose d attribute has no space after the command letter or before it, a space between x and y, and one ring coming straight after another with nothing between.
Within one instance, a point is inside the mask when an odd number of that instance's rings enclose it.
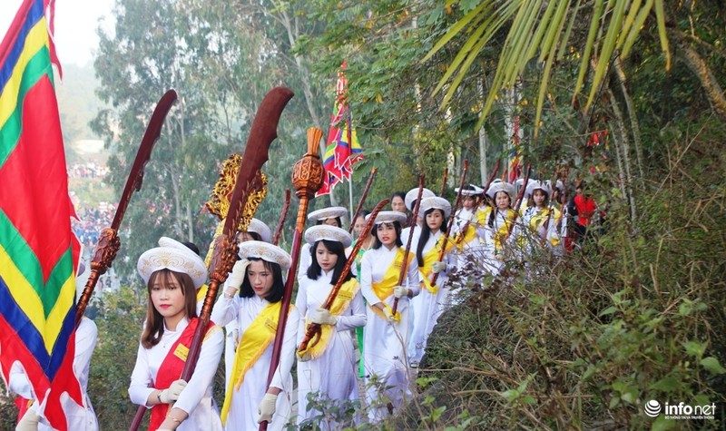
<instances>
[{"instance_id":1,"label":"pale overcast sky at upper left around the large flag's top","mask_svg":"<svg viewBox=\"0 0 726 431\"><path fill-rule=\"evenodd\" d=\"M61 64L83 66L93 61L97 50L96 28L103 19L106 33L113 29L114 0L56 0L55 45ZM0 0L0 36L15 17L23 0Z\"/></svg>"}]
</instances>

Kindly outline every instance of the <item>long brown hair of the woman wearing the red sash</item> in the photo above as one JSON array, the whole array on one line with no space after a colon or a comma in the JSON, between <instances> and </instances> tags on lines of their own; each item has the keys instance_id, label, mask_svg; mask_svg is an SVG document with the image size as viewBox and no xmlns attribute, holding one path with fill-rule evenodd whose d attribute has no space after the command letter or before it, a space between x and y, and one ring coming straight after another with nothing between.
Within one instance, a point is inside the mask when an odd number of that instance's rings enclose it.
<instances>
[{"instance_id":1,"label":"long brown hair of the woman wearing the red sash","mask_svg":"<svg viewBox=\"0 0 726 431\"><path fill-rule=\"evenodd\" d=\"M146 327L143 328L142 332L142 346L144 348L156 346L164 335L164 318L153 306L152 286L158 283L164 289L169 285L171 279L176 279L182 287L184 310L186 311L187 318L197 317L197 289L194 288L194 281L191 280L189 274L172 271L172 269L159 269L155 271L149 278L149 283L146 285L146 291L149 293L149 304L146 307Z\"/></svg>"}]
</instances>

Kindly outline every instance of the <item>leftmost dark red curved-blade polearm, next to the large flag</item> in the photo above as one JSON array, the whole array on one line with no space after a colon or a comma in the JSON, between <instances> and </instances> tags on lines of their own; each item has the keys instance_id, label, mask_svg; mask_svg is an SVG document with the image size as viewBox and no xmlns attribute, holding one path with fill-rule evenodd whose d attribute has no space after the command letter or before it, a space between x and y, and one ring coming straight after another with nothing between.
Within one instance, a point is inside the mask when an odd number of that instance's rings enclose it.
<instances>
[{"instance_id":1,"label":"leftmost dark red curved-blade polearm, next to the large flag","mask_svg":"<svg viewBox=\"0 0 726 431\"><path fill-rule=\"evenodd\" d=\"M139 151L136 152L136 159L133 160L129 178L126 179L126 186L123 188L121 199L116 207L116 213L113 215L111 227L101 231L96 248L93 250L91 274L85 282L85 288L83 288L83 293L75 309L76 328L81 323L83 313L85 313L86 306L91 299L93 289L95 289L99 277L106 272L106 269L111 267L113 260L116 259L116 252L121 247L121 241L118 237L121 220L123 220L123 215L129 206L133 191L140 191L142 189L143 168L152 157L153 145L159 141L164 119L167 113L169 113L169 110L172 109L172 105L176 102L176 99L176 92L169 90L162 95L159 103L156 103L156 108L153 110L149 125L146 126L146 132L143 133L142 144L139 146Z\"/></svg>"}]
</instances>

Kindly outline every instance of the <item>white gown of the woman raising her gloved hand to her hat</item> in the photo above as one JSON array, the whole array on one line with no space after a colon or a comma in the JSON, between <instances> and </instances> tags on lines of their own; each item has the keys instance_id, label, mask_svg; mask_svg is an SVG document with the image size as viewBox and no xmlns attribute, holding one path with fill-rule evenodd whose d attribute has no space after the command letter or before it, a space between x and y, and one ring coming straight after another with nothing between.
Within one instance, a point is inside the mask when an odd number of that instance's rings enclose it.
<instances>
[{"instance_id":1,"label":"white gown of the woman raising her gloved hand to her hat","mask_svg":"<svg viewBox=\"0 0 726 431\"><path fill-rule=\"evenodd\" d=\"M269 302L260 299L257 295L251 298L240 298L235 295L229 299L222 295L211 312L211 319L220 325L226 325L233 319L237 320L240 330L240 338L244 331L257 318L262 309L267 307ZM272 377L270 387L280 387L282 392L277 399L275 415L268 425L270 431L279 431L289 421L290 406L292 404L292 376L290 369L294 362L295 341L297 339L299 325L299 313L294 307L289 310L288 321L285 326L285 335L282 341L282 352L280 364ZM244 376L240 389L235 390L231 397L230 413L227 416L225 428L229 431L257 430L258 407L260 401L267 391L267 375L270 371L272 360L272 348L274 340L265 349L260 358L255 362Z\"/></svg>"}]
</instances>

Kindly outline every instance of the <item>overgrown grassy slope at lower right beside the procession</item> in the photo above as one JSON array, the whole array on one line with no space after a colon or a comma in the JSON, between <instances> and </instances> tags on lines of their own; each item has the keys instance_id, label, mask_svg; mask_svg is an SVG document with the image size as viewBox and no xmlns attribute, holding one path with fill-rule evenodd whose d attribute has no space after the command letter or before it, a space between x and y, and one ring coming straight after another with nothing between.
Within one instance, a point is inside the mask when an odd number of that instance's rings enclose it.
<instances>
[{"instance_id":1,"label":"overgrown grassy slope at lower right beside the procession","mask_svg":"<svg viewBox=\"0 0 726 431\"><path fill-rule=\"evenodd\" d=\"M475 283L439 319L426 358L437 371L422 372L441 379L443 397L455 400L446 406L488 412L487 427L667 429L672 422L645 416L643 403L724 401L726 286L717 274L726 271L726 211L712 203L724 198L724 172L711 171L709 193L692 194L702 187L698 154L717 151L723 132L712 120L689 128L699 134L663 156L670 169L653 180L669 181L643 191L641 220L629 222L627 206L605 192L612 185L602 180L613 179L601 178L594 195L603 192L608 228L597 240L565 261L530 261L541 268L535 279Z\"/></svg>"}]
</instances>

